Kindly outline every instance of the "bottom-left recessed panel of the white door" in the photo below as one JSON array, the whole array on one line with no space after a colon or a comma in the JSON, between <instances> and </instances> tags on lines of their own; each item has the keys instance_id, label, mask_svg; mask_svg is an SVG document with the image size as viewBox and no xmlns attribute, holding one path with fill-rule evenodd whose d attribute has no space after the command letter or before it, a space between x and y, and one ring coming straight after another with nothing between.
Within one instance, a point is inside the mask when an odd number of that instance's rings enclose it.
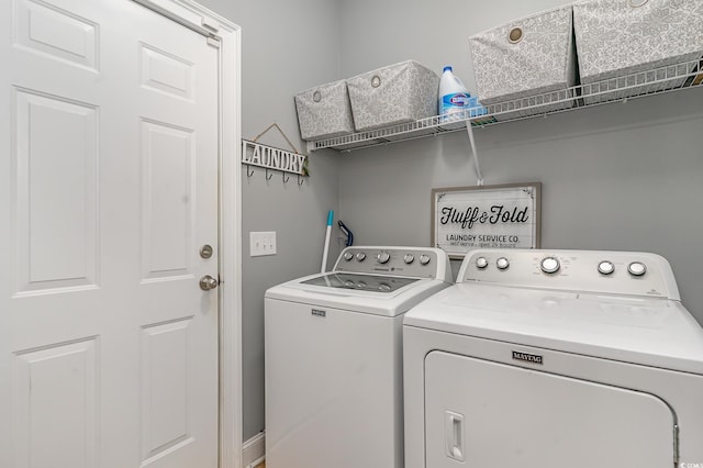
<instances>
[{"instance_id":1,"label":"bottom-left recessed panel of the white door","mask_svg":"<svg viewBox=\"0 0 703 468\"><path fill-rule=\"evenodd\" d=\"M14 356L12 467L98 466L97 348L92 338Z\"/></svg>"}]
</instances>

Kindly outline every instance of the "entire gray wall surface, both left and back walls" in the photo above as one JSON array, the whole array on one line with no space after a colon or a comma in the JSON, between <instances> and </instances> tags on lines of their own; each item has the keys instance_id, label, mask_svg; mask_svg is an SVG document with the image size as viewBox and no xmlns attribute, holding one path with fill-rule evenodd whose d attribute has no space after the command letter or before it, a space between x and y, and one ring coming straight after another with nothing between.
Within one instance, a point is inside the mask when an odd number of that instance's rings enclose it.
<instances>
[{"instance_id":1,"label":"entire gray wall surface, both left and back walls","mask_svg":"<svg viewBox=\"0 0 703 468\"><path fill-rule=\"evenodd\" d=\"M469 35L562 0L200 0L243 27L243 135L278 122L294 143L302 89L414 58L475 90ZM476 133L486 183L543 182L543 246L637 249L669 258L703 322L703 89L534 119ZM284 147L281 138L263 140ZM310 181L244 187L244 439L264 428L263 294L320 268L335 210L357 244L429 243L429 191L476 183L465 133L311 155ZM275 257L248 257L250 231L277 231ZM335 256L338 242L334 243Z\"/></svg>"}]
</instances>

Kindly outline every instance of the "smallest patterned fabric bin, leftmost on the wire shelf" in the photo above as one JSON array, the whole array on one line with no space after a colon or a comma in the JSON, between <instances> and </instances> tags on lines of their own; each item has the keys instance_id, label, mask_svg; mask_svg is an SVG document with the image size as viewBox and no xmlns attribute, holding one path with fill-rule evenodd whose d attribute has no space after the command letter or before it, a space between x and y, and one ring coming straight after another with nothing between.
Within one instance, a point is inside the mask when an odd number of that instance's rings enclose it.
<instances>
[{"instance_id":1,"label":"smallest patterned fabric bin, leftmost on the wire shelf","mask_svg":"<svg viewBox=\"0 0 703 468\"><path fill-rule=\"evenodd\" d=\"M346 80L299 92L295 110L303 140L332 138L354 132Z\"/></svg>"}]
</instances>

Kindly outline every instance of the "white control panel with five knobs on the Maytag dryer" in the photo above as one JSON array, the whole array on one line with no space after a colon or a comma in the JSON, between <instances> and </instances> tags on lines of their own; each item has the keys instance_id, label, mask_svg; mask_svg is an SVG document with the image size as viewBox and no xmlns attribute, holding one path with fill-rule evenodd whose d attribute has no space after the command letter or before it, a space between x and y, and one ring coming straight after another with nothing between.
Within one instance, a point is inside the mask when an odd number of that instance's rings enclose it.
<instances>
[{"instance_id":1,"label":"white control panel with five knobs on the Maytag dryer","mask_svg":"<svg viewBox=\"0 0 703 468\"><path fill-rule=\"evenodd\" d=\"M680 300L669 263L638 252L473 250L459 270L464 281Z\"/></svg>"}]
</instances>

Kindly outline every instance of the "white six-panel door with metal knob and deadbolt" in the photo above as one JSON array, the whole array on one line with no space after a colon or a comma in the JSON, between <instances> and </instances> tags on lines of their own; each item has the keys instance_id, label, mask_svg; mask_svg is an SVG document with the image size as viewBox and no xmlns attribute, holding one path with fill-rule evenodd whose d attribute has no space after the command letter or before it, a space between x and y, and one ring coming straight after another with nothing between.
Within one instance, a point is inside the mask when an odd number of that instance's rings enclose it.
<instances>
[{"instance_id":1,"label":"white six-panel door with metal knob and deadbolt","mask_svg":"<svg viewBox=\"0 0 703 468\"><path fill-rule=\"evenodd\" d=\"M214 468L217 48L130 0L0 10L0 466Z\"/></svg>"}]
</instances>

